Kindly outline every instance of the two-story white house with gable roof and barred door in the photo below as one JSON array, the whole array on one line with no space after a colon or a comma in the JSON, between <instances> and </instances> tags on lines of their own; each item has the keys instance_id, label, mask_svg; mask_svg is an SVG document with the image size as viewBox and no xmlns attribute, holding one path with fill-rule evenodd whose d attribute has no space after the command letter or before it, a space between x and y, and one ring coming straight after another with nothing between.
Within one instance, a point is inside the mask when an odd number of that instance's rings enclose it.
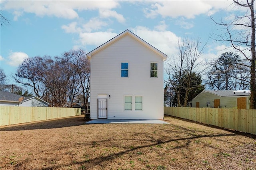
<instances>
[{"instance_id":1,"label":"two-story white house with gable roof and barred door","mask_svg":"<svg viewBox=\"0 0 256 170\"><path fill-rule=\"evenodd\" d=\"M87 54L91 119L162 119L167 55L126 30Z\"/></svg>"}]
</instances>

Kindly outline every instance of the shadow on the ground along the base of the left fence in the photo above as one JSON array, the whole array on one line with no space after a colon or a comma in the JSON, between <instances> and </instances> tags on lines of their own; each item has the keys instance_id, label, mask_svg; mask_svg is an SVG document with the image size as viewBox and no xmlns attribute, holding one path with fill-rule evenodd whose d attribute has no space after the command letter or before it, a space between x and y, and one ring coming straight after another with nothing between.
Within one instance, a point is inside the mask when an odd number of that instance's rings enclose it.
<instances>
[{"instance_id":1,"label":"shadow on the ground along the base of the left fence","mask_svg":"<svg viewBox=\"0 0 256 170\"><path fill-rule=\"evenodd\" d=\"M36 130L36 129L51 129L63 128L84 125L86 120L84 115L66 117L61 119L53 119L32 123L23 123L18 125L9 125L0 128L0 131L17 131L17 130Z\"/></svg>"}]
</instances>

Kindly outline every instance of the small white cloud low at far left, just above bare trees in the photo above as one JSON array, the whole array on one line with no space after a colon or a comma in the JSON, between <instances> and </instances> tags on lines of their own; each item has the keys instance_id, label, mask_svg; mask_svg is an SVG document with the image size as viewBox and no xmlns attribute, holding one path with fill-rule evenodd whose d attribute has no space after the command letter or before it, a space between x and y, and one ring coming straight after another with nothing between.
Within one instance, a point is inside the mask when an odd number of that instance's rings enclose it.
<instances>
[{"instance_id":1,"label":"small white cloud low at far left, just above bare trees","mask_svg":"<svg viewBox=\"0 0 256 170\"><path fill-rule=\"evenodd\" d=\"M28 58L28 55L24 52L10 52L8 56L7 63L11 66L18 66L20 65L26 58Z\"/></svg>"}]
</instances>

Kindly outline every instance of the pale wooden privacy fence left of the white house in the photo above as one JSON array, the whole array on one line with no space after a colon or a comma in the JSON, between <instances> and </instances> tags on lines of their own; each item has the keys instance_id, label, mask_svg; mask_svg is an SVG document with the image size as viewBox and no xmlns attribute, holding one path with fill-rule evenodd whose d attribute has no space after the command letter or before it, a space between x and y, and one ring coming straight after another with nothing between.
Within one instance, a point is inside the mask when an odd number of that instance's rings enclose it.
<instances>
[{"instance_id":1,"label":"pale wooden privacy fence left of the white house","mask_svg":"<svg viewBox=\"0 0 256 170\"><path fill-rule=\"evenodd\" d=\"M80 108L0 106L0 126L81 115Z\"/></svg>"}]
</instances>

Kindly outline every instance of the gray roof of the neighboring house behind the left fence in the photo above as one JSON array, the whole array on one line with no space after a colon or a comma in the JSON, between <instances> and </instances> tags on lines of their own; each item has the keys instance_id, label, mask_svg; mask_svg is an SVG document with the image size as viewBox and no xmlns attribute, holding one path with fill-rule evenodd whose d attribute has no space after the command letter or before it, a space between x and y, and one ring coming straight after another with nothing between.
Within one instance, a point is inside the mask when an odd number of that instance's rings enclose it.
<instances>
[{"instance_id":1,"label":"gray roof of the neighboring house behind the left fence","mask_svg":"<svg viewBox=\"0 0 256 170\"><path fill-rule=\"evenodd\" d=\"M21 103L21 102L24 102L24 101L28 101L28 100L31 100L31 99L37 99L43 103L46 103L48 105L50 105L50 103L40 99L39 97L36 97L36 96L27 96L27 97L24 97L24 96L21 96L21 95L16 95L14 93L10 93L8 91L0 91L0 101L9 101L9 102L15 102L15 103Z\"/></svg>"}]
</instances>

